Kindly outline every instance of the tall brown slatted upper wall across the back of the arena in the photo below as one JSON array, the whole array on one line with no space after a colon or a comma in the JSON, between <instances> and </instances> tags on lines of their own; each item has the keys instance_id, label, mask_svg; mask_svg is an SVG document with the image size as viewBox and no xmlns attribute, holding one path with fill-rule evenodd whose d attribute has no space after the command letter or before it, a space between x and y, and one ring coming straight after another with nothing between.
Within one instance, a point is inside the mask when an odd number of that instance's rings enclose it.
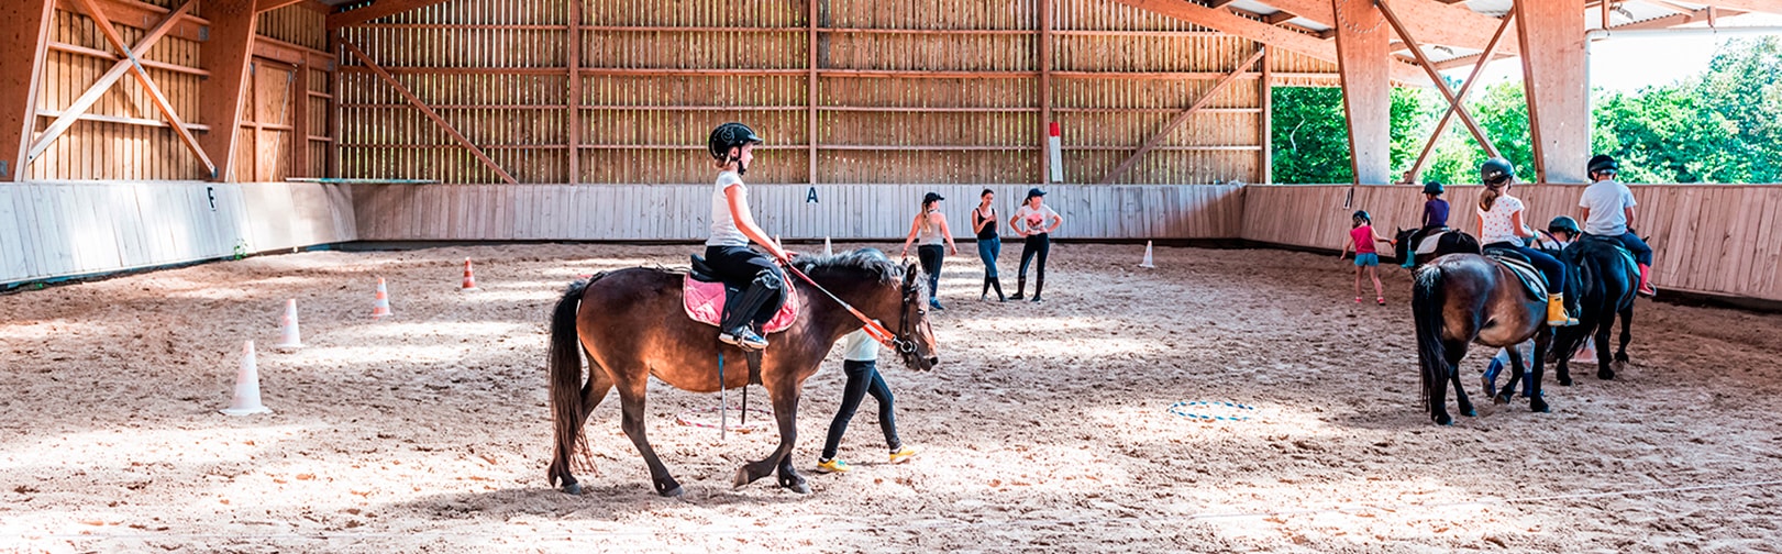
<instances>
[{"instance_id":1,"label":"tall brown slatted upper wall across the back of the arena","mask_svg":"<svg viewBox=\"0 0 1782 554\"><path fill-rule=\"evenodd\" d=\"M768 139L754 183L1034 183L1044 109L1066 182L1099 182L1258 48L1107 0L449 0L340 37L526 183L702 183L723 121ZM342 64L342 176L499 182ZM1290 84L1335 71L1292 53L1271 66ZM1119 182L1260 182L1258 91L1240 78Z\"/></svg>"}]
</instances>

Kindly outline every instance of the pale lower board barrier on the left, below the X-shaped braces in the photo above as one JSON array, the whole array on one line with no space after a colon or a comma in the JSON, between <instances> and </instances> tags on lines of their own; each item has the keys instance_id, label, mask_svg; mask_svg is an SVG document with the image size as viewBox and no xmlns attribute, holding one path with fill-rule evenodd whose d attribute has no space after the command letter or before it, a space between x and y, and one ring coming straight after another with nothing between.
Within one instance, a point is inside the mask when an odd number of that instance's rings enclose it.
<instances>
[{"instance_id":1,"label":"pale lower board barrier on the left, below the X-shaped braces","mask_svg":"<svg viewBox=\"0 0 1782 554\"><path fill-rule=\"evenodd\" d=\"M216 208L210 208L210 194ZM27 182L0 187L0 285L356 240L340 185Z\"/></svg>"}]
</instances>

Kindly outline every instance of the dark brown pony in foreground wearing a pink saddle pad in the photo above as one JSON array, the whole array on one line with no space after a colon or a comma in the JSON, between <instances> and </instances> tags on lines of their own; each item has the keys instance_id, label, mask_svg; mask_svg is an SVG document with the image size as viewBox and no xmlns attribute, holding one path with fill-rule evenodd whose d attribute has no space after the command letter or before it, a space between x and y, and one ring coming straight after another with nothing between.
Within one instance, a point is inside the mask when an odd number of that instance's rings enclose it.
<instances>
[{"instance_id":1,"label":"dark brown pony in foreground wearing a pink saddle pad","mask_svg":"<svg viewBox=\"0 0 1782 554\"><path fill-rule=\"evenodd\" d=\"M813 281L854 305L866 317L896 330L898 353L918 371L939 363L934 331L928 328L928 292L921 271L898 267L877 249L838 257L795 260ZM743 351L718 342L718 330L686 317L681 305L683 273L633 267L595 274L563 292L551 317L551 417L556 424L556 451L551 460L551 485L581 493L570 476L572 458L583 456L581 428L606 392L618 388L624 411L622 428L650 467L656 492L681 495L681 485L656 458L643 435L643 394L650 376L681 390L718 392L748 385L750 372ZM830 346L861 328L861 321L809 283L788 278L804 314L782 333L768 337L772 346L761 356L761 379L773 404L781 444L768 458L736 470L734 486L754 483L779 470L779 485L800 493L811 492L791 467L791 447L798 436L795 424L804 379L816 374ZM718 383L718 351L723 349L725 372ZM588 378L583 381L581 358L586 354Z\"/></svg>"}]
</instances>

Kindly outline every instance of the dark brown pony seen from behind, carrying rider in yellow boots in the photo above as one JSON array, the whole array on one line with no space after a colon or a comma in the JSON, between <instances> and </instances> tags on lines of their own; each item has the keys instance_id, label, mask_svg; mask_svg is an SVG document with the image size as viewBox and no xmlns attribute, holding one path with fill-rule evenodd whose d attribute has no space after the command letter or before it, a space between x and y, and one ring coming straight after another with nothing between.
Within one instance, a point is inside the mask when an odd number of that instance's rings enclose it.
<instances>
[{"instance_id":1,"label":"dark brown pony seen from behind, carrying rider in yellow boots","mask_svg":"<svg viewBox=\"0 0 1782 554\"><path fill-rule=\"evenodd\" d=\"M1461 415L1477 415L1467 390L1459 385L1459 360L1472 342L1509 351L1513 376L1524 372L1522 354L1515 346L1534 338L1534 371L1529 374L1529 408L1547 411L1541 399L1541 360L1552 344L1547 326L1547 303L1524 290L1520 280L1492 258L1454 253L1415 269L1417 285L1411 290L1411 315L1417 321L1417 358L1422 363L1424 403L1429 419L1447 426L1447 383L1454 383L1454 399ZM1495 395L1509 403L1515 381ZM1486 390L1486 394L1492 394Z\"/></svg>"}]
</instances>

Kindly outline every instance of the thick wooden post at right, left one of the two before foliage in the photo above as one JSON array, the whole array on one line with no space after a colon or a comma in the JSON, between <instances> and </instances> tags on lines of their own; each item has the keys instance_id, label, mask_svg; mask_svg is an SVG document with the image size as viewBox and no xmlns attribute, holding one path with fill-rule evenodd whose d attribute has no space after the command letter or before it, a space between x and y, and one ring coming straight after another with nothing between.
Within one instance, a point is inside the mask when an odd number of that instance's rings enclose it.
<instances>
[{"instance_id":1,"label":"thick wooden post at right, left one of the two before foliage","mask_svg":"<svg viewBox=\"0 0 1782 554\"><path fill-rule=\"evenodd\" d=\"M1374 0L1331 0L1336 16L1336 69L1349 121L1356 183L1390 183L1392 173L1392 32Z\"/></svg>"}]
</instances>

